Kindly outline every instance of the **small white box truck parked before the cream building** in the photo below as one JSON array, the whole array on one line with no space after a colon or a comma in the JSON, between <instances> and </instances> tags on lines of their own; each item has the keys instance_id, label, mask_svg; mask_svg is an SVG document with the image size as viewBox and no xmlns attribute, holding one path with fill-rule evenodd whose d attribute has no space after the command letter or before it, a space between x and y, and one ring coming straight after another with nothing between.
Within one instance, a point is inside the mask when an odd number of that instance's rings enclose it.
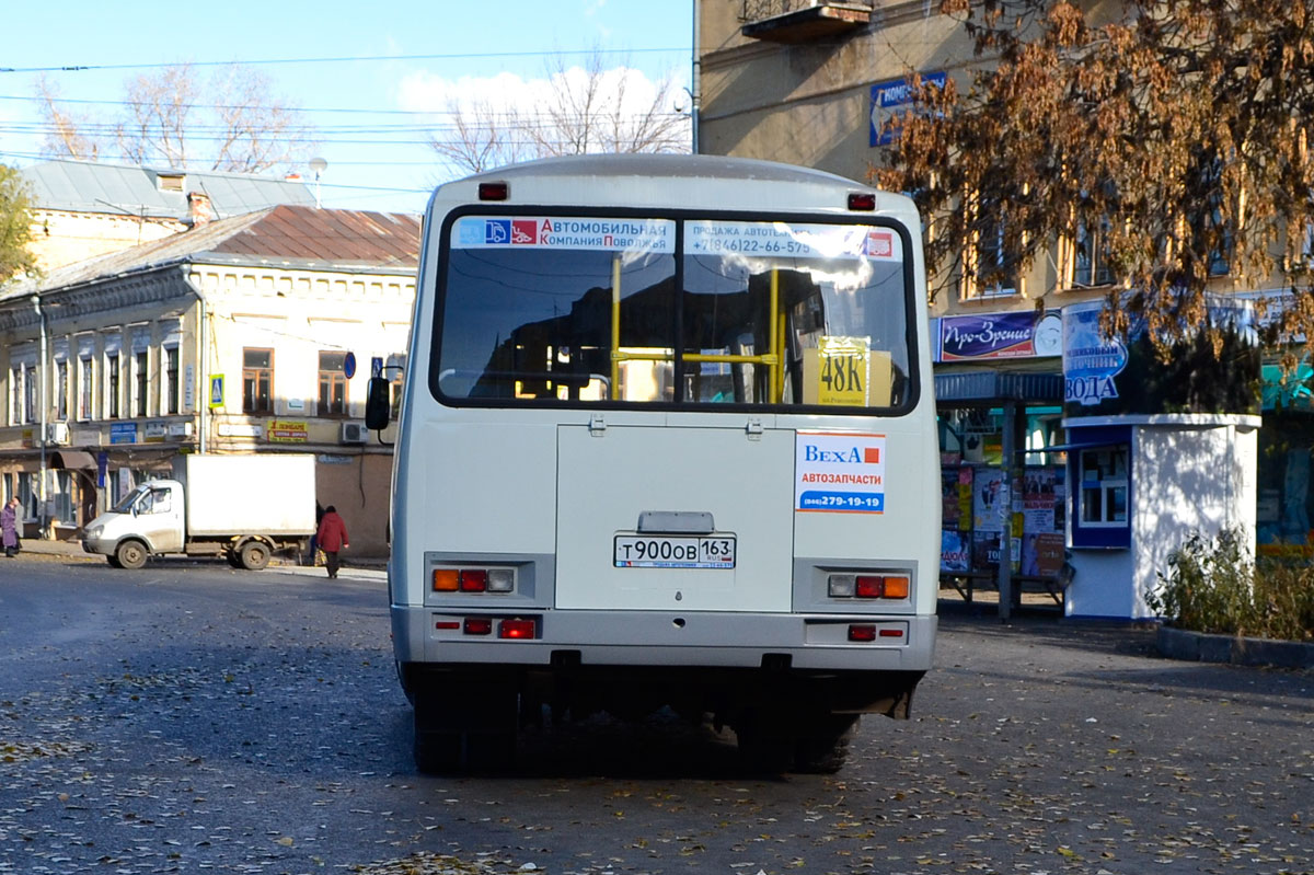
<instances>
[{"instance_id":1,"label":"small white box truck parked before the cream building","mask_svg":"<svg viewBox=\"0 0 1314 875\"><path fill-rule=\"evenodd\" d=\"M223 556L259 570L273 550L315 532L315 457L309 453L180 456L172 480L151 480L87 526L83 549L114 568L151 556Z\"/></svg>"}]
</instances>

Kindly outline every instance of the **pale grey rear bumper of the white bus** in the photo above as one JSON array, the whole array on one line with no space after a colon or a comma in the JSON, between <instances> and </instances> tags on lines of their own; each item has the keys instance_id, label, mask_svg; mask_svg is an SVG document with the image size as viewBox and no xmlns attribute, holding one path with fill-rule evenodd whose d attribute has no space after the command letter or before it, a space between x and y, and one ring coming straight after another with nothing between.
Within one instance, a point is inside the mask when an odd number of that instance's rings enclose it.
<instances>
[{"instance_id":1,"label":"pale grey rear bumper of the white bus","mask_svg":"<svg viewBox=\"0 0 1314 875\"><path fill-rule=\"evenodd\" d=\"M468 616L494 620L491 635L465 635ZM502 640L503 617L537 620L537 637ZM393 649L402 663L649 666L815 671L926 671L934 656L934 615L723 614L657 611L524 611L453 614L392 606ZM851 624L876 627L850 642ZM882 635L883 632L883 635Z\"/></svg>"}]
</instances>

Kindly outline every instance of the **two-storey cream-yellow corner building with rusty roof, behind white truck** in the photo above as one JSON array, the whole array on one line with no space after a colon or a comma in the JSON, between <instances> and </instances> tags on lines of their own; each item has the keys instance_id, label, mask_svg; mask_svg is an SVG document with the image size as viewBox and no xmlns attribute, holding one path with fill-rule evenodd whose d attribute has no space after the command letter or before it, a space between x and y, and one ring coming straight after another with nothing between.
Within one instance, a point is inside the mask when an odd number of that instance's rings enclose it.
<instances>
[{"instance_id":1,"label":"two-storey cream-yellow corner building with rusty roof, behind white truck","mask_svg":"<svg viewBox=\"0 0 1314 875\"><path fill-rule=\"evenodd\" d=\"M415 215L275 206L8 289L0 491L29 532L74 537L177 453L313 452L353 550L385 553L392 453L365 382L377 360L399 386L418 250Z\"/></svg>"}]
</instances>

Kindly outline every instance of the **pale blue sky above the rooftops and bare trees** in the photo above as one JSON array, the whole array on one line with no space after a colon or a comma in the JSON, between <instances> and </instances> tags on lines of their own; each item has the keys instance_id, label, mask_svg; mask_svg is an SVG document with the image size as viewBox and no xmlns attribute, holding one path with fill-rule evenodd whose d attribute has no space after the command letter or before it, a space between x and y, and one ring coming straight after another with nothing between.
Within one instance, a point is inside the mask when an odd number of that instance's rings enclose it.
<instances>
[{"instance_id":1,"label":"pale blue sky above the rooftops and bare trees","mask_svg":"<svg viewBox=\"0 0 1314 875\"><path fill-rule=\"evenodd\" d=\"M690 79L692 0L376 0L129 4L66 0L8 4L0 47L0 162L26 166L39 137L34 85L46 72L75 114L112 118L135 64L260 63L272 91L306 109L328 162L325 206L419 212L452 173L423 145L419 85L473 88L498 74L543 79L555 58L573 64L599 49L652 80ZM445 55L445 56L432 56ZM457 56L460 55L460 56ZM62 67L91 67L66 71ZM687 106L687 100L685 101ZM313 110L313 112L311 112ZM328 112L352 110L352 112ZM350 142L367 141L367 142ZM310 176L309 168L301 169Z\"/></svg>"}]
</instances>

